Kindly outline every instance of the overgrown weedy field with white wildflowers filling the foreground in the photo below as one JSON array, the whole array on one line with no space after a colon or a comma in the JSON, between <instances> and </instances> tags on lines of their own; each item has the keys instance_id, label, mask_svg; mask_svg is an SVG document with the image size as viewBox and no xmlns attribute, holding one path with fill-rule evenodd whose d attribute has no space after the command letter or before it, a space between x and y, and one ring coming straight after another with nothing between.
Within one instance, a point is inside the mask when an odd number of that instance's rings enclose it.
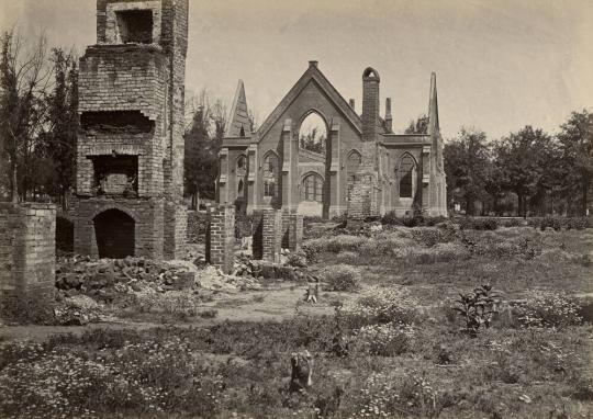
<instances>
[{"instance_id":1,"label":"overgrown weedy field with white wildflowers filling the foreground","mask_svg":"<svg viewBox=\"0 0 593 419\"><path fill-rule=\"evenodd\" d=\"M3 342L0 417L593 416L593 230L310 233L289 263L334 314ZM289 392L305 349L313 384Z\"/></svg>"}]
</instances>

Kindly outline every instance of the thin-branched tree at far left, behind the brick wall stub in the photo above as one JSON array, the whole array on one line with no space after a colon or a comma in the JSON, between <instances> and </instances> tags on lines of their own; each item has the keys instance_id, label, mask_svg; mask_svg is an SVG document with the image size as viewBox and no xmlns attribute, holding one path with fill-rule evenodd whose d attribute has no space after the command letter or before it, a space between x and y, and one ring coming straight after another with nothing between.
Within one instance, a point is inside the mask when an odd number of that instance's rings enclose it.
<instances>
[{"instance_id":1,"label":"thin-branched tree at far left, behind the brick wall stub","mask_svg":"<svg viewBox=\"0 0 593 419\"><path fill-rule=\"evenodd\" d=\"M32 184L35 140L43 129L52 68L47 66L44 36L23 50L13 31L0 38L0 140L3 170L12 202L26 199Z\"/></svg>"}]
</instances>

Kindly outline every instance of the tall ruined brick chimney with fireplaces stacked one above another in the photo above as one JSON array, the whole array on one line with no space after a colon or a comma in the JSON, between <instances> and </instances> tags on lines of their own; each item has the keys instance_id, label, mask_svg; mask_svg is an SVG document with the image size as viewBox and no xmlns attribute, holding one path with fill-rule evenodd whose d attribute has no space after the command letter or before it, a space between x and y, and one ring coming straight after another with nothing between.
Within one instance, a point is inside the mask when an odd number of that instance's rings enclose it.
<instances>
[{"instance_id":1,"label":"tall ruined brick chimney with fireplaces stacked one above another","mask_svg":"<svg viewBox=\"0 0 593 419\"><path fill-rule=\"evenodd\" d=\"M188 0L98 0L80 59L75 251L180 256Z\"/></svg>"}]
</instances>

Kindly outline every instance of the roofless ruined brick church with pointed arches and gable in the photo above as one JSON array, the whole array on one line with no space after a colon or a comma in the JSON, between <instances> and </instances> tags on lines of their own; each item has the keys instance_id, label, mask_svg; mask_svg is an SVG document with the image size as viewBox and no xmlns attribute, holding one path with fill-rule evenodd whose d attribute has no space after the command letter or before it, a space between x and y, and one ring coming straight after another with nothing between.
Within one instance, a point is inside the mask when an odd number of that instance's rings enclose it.
<instances>
[{"instance_id":1,"label":"roofless ruined brick church with pointed arches and gable","mask_svg":"<svg viewBox=\"0 0 593 419\"><path fill-rule=\"evenodd\" d=\"M217 200L253 213L282 208L366 218L414 208L447 215L436 76L430 79L426 134L394 134L391 99L380 116L380 77L362 73L362 112L355 112L320 70L309 68L257 131L239 81L220 152ZM325 125L324 152L302 147L311 114Z\"/></svg>"}]
</instances>

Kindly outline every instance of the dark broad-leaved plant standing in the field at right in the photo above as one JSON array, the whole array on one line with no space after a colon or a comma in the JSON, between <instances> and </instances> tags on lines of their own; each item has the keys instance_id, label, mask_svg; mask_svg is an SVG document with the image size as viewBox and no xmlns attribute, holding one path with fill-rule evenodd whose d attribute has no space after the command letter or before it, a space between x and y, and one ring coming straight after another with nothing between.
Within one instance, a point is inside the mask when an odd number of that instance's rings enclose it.
<instances>
[{"instance_id":1,"label":"dark broad-leaved plant standing in the field at right","mask_svg":"<svg viewBox=\"0 0 593 419\"><path fill-rule=\"evenodd\" d=\"M465 331L475 336L481 327L489 328L494 315L494 304L500 295L492 291L491 285L481 285L471 293L459 294L454 307L466 322Z\"/></svg>"}]
</instances>

